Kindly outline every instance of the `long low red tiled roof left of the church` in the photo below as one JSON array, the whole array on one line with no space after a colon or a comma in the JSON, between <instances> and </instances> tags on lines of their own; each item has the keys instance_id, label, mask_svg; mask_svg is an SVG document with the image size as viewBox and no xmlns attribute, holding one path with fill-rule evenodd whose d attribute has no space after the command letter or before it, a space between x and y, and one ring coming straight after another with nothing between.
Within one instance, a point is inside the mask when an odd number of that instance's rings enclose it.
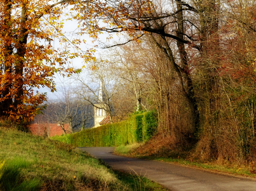
<instances>
[{"instance_id":1,"label":"long low red tiled roof left of the church","mask_svg":"<svg viewBox=\"0 0 256 191\"><path fill-rule=\"evenodd\" d=\"M33 123L28 126L28 129L33 135L43 136L48 134L51 137L63 134L63 130L58 123ZM69 124L64 124L64 129L66 133L70 133Z\"/></svg>"}]
</instances>

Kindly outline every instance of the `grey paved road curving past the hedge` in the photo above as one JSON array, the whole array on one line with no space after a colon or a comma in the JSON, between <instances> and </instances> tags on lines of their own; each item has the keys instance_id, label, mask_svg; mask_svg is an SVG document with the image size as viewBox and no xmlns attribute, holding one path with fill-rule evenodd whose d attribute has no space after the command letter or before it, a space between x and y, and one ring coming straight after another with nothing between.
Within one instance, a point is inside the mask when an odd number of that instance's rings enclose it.
<instances>
[{"instance_id":1,"label":"grey paved road curving past the hedge","mask_svg":"<svg viewBox=\"0 0 256 191\"><path fill-rule=\"evenodd\" d=\"M172 191L256 191L256 179L234 177L171 163L113 155L114 147L79 147L113 169L135 171Z\"/></svg>"}]
</instances>

